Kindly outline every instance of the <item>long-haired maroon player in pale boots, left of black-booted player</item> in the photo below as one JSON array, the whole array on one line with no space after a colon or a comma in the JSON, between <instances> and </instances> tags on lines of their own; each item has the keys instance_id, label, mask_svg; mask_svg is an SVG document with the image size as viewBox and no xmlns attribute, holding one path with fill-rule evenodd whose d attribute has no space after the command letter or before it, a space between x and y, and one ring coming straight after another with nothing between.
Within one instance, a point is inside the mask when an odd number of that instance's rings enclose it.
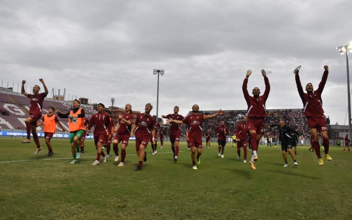
<instances>
[{"instance_id":1,"label":"long-haired maroon player in pale boots, left of black-booted player","mask_svg":"<svg viewBox=\"0 0 352 220\"><path fill-rule=\"evenodd\" d=\"M121 162L118 165L125 165L126 147L130 140L131 127L134 116L132 115L132 106L130 103L125 105L125 113L119 115L119 123L117 124L116 134L113 141L113 149L115 153L115 162L119 161L119 143L121 142Z\"/></svg>"}]
</instances>

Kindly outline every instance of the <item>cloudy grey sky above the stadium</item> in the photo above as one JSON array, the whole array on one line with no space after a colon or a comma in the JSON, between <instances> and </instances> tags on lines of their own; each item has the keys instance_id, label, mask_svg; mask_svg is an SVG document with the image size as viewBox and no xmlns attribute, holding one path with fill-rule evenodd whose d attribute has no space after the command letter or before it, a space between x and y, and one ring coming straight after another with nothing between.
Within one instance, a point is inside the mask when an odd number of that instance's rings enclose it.
<instances>
[{"instance_id":1,"label":"cloudy grey sky above the stadium","mask_svg":"<svg viewBox=\"0 0 352 220\"><path fill-rule=\"evenodd\" d=\"M17 91L44 78L49 90L159 116L175 105L201 110L246 109L241 86L271 91L267 109L303 108L293 70L318 88L329 66L323 108L331 123L345 122L346 58L336 51L352 41L350 0L0 1L0 79ZM352 62L352 60L351 60ZM352 70L351 70L352 71ZM67 97L68 99L68 97ZM156 114L156 108L152 110Z\"/></svg>"}]
</instances>

